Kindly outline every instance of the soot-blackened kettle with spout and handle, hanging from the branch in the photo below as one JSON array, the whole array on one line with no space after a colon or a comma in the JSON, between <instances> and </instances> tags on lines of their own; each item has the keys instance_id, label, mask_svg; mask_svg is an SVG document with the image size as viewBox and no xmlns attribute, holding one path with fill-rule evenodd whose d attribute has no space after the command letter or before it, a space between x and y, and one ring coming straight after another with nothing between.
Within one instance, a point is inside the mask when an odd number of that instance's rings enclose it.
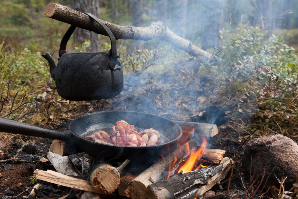
<instances>
[{"instance_id":1,"label":"soot-blackened kettle with spout and handle, hanging from the branch","mask_svg":"<svg viewBox=\"0 0 298 199\"><path fill-rule=\"evenodd\" d=\"M50 66L58 94L67 100L98 100L112 98L123 88L122 65L117 56L116 40L111 30L91 13L85 13L108 33L111 49L98 53L66 53L66 44L76 29L71 25L63 36L58 64L49 53L42 55Z\"/></svg>"}]
</instances>

